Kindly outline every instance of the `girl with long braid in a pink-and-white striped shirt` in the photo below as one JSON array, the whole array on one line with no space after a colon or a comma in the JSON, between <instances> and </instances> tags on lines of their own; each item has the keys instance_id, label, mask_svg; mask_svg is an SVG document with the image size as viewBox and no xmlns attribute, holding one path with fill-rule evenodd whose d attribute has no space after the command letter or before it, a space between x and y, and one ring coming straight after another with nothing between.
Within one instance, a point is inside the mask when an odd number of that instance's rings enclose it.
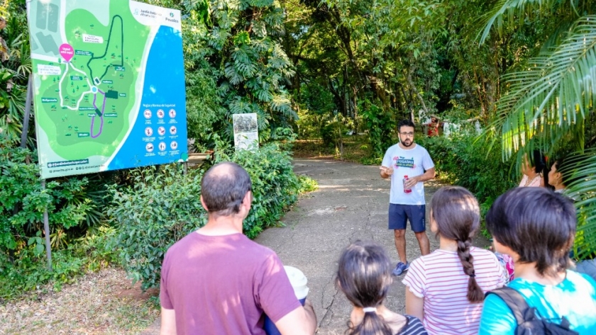
<instances>
[{"instance_id":1,"label":"girl with long braid in a pink-and-white striped shirt","mask_svg":"<svg viewBox=\"0 0 596 335\"><path fill-rule=\"evenodd\" d=\"M477 334L485 293L506 282L495 254L471 246L480 226L478 200L465 188L441 188L430 218L439 249L412 262L403 280L406 312L431 335Z\"/></svg>"}]
</instances>

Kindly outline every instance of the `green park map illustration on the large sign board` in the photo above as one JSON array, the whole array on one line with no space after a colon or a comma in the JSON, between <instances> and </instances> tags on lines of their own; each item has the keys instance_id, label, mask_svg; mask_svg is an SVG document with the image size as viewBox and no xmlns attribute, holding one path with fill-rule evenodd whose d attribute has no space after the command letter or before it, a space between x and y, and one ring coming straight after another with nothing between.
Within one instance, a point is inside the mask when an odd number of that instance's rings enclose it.
<instances>
[{"instance_id":1,"label":"green park map illustration on the large sign board","mask_svg":"<svg viewBox=\"0 0 596 335\"><path fill-rule=\"evenodd\" d=\"M30 5L37 6L30 8L31 35L40 37L34 53L56 50L58 44L42 38L60 30L52 18L61 9L60 1L50 2L50 6L38 1ZM150 27L138 23L128 1L109 1L104 7L109 11L109 24L101 23L89 8L67 8L62 24L65 44L74 52L66 55L72 57L70 61L62 55L62 48L57 62L35 59L40 69L35 78L35 103L40 106L36 116L53 152L65 160L78 159L82 150L88 156L111 156L126 135L129 113L140 99L135 84ZM45 74L54 67L60 68L59 76Z\"/></svg>"}]
</instances>

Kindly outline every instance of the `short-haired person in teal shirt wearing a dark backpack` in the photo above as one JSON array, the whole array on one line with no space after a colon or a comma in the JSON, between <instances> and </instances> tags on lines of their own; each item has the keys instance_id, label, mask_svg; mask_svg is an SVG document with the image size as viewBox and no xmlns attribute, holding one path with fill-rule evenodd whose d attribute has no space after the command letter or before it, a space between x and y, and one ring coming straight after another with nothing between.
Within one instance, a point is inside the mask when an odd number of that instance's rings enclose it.
<instances>
[{"instance_id":1,"label":"short-haired person in teal shirt wearing a dark backpack","mask_svg":"<svg viewBox=\"0 0 596 335\"><path fill-rule=\"evenodd\" d=\"M512 256L517 290L541 319L579 334L596 334L596 282L567 270L575 237L575 208L570 199L543 188L514 188L501 195L486 215L497 251ZM496 295L485 300L480 334L515 334L513 312ZM542 334L542 333L536 333Z\"/></svg>"}]
</instances>

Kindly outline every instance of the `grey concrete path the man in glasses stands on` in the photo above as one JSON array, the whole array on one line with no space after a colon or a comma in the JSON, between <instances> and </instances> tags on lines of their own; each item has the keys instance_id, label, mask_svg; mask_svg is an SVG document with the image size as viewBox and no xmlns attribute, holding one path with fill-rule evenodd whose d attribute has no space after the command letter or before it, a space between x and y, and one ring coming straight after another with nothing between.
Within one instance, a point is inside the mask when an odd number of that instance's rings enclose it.
<instances>
[{"instance_id":1,"label":"grey concrete path the man in glasses stands on","mask_svg":"<svg viewBox=\"0 0 596 335\"><path fill-rule=\"evenodd\" d=\"M380 178L378 166L341 161L296 159L294 171L319 181L319 190L299 200L285 215L286 227L266 229L255 241L269 246L285 265L301 269L309 279L309 299L319 321L316 334L343 335L351 304L334 283L341 250L357 239L373 240L385 247L394 263L398 261L393 232L387 229L390 183ZM425 183L427 202L439 187L436 181ZM434 250L438 241L426 226ZM409 229L406 238L408 259L416 259L420 249ZM394 278L386 305L403 314L402 278Z\"/></svg>"}]
</instances>

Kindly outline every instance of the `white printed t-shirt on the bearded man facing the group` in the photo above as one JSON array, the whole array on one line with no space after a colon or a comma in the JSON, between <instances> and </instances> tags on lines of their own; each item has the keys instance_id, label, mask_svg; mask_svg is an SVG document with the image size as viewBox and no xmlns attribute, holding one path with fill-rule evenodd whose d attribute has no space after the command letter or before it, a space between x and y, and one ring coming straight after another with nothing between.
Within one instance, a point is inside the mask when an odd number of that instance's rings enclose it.
<instances>
[{"instance_id":1,"label":"white printed t-shirt on the bearded man facing the group","mask_svg":"<svg viewBox=\"0 0 596 335\"><path fill-rule=\"evenodd\" d=\"M404 176L414 177L434 168L429 152L418 144L412 149L402 149L399 143L387 149L382 166L392 167L389 202L397 205L426 205L424 183L416 183L411 193L404 193Z\"/></svg>"}]
</instances>

